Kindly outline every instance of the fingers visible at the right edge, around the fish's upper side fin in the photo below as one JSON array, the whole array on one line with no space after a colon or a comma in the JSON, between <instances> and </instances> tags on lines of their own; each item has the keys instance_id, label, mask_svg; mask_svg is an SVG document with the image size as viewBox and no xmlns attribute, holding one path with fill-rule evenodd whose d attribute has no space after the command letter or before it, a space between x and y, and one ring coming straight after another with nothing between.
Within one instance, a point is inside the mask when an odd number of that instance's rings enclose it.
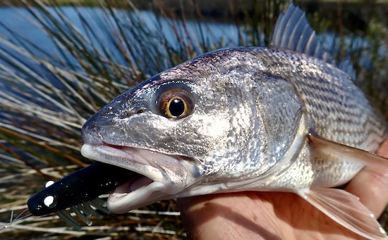
<instances>
[{"instance_id":1,"label":"fingers visible at the right edge, around the fish's upper side fin","mask_svg":"<svg viewBox=\"0 0 388 240\"><path fill-rule=\"evenodd\" d=\"M384 141L377 154L388 158L388 140ZM388 168L367 167L361 170L346 187L346 191L360 198L360 201L379 217L388 204Z\"/></svg>"}]
</instances>

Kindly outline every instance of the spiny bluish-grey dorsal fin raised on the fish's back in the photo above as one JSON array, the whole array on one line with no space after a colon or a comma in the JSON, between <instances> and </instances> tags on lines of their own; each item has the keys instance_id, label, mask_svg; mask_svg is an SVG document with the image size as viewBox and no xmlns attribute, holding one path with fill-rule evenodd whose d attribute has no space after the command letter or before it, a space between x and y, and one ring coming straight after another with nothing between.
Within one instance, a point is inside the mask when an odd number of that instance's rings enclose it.
<instances>
[{"instance_id":1,"label":"spiny bluish-grey dorsal fin raised on the fish's back","mask_svg":"<svg viewBox=\"0 0 388 240\"><path fill-rule=\"evenodd\" d=\"M308 24L305 13L292 2L287 11L279 15L269 47L289 49L320 58L355 77L351 62L346 59L338 65L335 63L332 55L325 50L315 31Z\"/></svg>"}]
</instances>

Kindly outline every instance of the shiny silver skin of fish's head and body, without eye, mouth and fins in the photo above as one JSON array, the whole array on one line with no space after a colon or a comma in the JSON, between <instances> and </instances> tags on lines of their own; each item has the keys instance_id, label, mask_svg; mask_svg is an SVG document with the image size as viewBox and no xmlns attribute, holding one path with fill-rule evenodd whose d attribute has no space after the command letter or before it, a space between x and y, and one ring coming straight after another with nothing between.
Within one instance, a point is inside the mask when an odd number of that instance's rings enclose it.
<instances>
[{"instance_id":1,"label":"shiny silver skin of fish's head and body, without eye, mouth and fins","mask_svg":"<svg viewBox=\"0 0 388 240\"><path fill-rule=\"evenodd\" d=\"M152 106L158 89L170 84L195 95L188 118L164 118ZM234 181L282 163L295 138L307 143L310 128L371 152L386 137L384 120L341 70L293 51L244 47L207 53L152 77L89 120L83 139L186 156L198 161L198 177ZM283 177L277 185L310 186L320 179L334 187L362 167L346 162L320 167L311 163L308 147L300 143L298 149L292 151L301 151L303 174Z\"/></svg>"}]
</instances>

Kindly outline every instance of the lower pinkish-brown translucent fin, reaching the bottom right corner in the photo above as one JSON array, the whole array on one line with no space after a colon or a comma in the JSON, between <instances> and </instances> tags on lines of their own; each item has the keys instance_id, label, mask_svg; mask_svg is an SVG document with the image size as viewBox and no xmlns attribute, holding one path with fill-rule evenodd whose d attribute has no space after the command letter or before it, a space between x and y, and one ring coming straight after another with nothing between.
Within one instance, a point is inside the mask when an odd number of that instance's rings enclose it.
<instances>
[{"instance_id":1,"label":"lower pinkish-brown translucent fin, reaching the bottom right corner","mask_svg":"<svg viewBox=\"0 0 388 240\"><path fill-rule=\"evenodd\" d=\"M341 189L313 188L297 192L340 225L367 239L387 239L387 233L358 197Z\"/></svg>"}]
</instances>

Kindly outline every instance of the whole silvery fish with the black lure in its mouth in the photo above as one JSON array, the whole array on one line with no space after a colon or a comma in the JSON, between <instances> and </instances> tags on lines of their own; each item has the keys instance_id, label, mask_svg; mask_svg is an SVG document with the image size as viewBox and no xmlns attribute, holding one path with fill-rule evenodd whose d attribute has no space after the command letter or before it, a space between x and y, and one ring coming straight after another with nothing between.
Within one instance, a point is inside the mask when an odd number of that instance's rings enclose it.
<instances>
[{"instance_id":1,"label":"whole silvery fish with the black lure in its mouth","mask_svg":"<svg viewBox=\"0 0 388 240\"><path fill-rule=\"evenodd\" d=\"M61 212L112 189L107 208L126 213L171 198L283 191L360 236L387 239L370 210L338 188L365 166L387 168L374 154L387 123L354 84L350 61L333 59L291 2L269 46L205 53L92 115L81 154L98 164L52 184L28 206L37 215ZM82 193L76 186L87 172L107 174L99 184L109 186L69 197L73 187Z\"/></svg>"}]
</instances>

